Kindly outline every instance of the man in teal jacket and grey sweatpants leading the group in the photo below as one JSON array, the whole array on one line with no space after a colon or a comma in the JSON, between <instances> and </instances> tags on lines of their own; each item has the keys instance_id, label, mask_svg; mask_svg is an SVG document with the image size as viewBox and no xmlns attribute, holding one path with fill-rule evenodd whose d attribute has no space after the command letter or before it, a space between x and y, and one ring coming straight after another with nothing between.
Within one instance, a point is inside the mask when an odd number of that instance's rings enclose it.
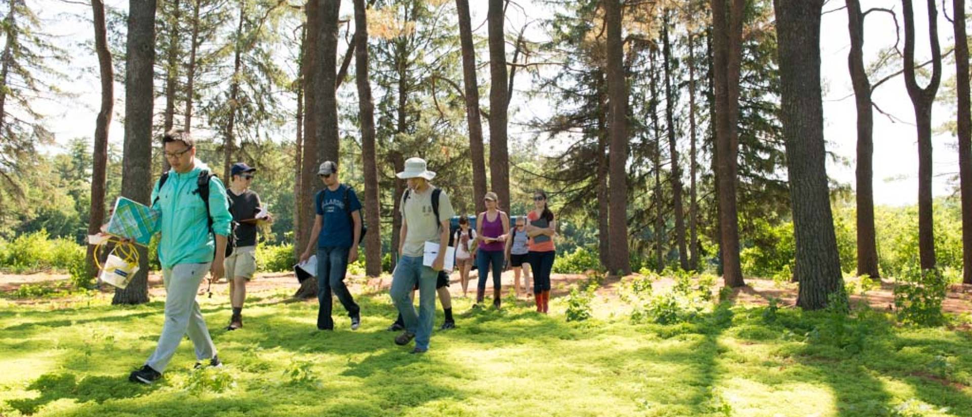
<instances>
[{"instance_id":1,"label":"man in teal jacket and grey sweatpants leading the group","mask_svg":"<svg viewBox=\"0 0 972 417\"><path fill-rule=\"evenodd\" d=\"M152 208L161 213L155 231L161 233L158 261L165 283L165 323L156 351L141 369L128 377L132 382L143 384L151 384L161 377L187 333L195 347L197 361L220 365L216 346L209 336L195 295L207 271L212 273L213 279L223 276L226 236L232 220L226 188L218 178L207 182L208 201L204 202L199 195L199 173L208 167L195 158L195 142L189 133L170 130L165 133L162 143L172 169L165 174L164 184L156 182ZM204 204L209 205L212 230Z\"/></svg>"}]
</instances>

